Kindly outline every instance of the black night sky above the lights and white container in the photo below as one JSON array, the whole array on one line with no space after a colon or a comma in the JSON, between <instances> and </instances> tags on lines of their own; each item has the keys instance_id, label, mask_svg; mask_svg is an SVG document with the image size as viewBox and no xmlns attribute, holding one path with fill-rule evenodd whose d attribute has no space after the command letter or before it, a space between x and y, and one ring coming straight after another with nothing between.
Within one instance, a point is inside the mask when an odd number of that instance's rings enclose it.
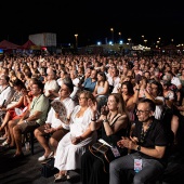
<instances>
[{"instance_id":1,"label":"black night sky above the lights and white container","mask_svg":"<svg viewBox=\"0 0 184 184\"><path fill-rule=\"evenodd\" d=\"M166 43L184 43L184 6L182 1L3 1L1 2L0 41L6 39L23 44L28 36L54 32L57 43L95 44L111 39L128 38L134 43L147 39L147 44L158 40Z\"/></svg>"}]
</instances>

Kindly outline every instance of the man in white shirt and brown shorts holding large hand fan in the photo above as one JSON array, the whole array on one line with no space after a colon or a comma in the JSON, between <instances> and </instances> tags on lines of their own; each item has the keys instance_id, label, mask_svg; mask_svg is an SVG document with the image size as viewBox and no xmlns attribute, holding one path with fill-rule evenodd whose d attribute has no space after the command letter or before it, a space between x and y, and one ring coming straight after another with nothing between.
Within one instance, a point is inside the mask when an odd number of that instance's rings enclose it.
<instances>
[{"instance_id":1,"label":"man in white shirt and brown shorts holding large hand fan","mask_svg":"<svg viewBox=\"0 0 184 184\"><path fill-rule=\"evenodd\" d=\"M75 107L75 102L69 97L73 90L74 90L73 81L70 80L70 82L66 82L66 80L64 80L64 83L62 84L61 90L58 92L60 97L53 100L53 102L60 100L61 102L64 103L67 110L68 118ZM57 148L58 142L68 131L69 131L69 124L66 124L62 122L60 119L57 119L55 116L54 108L51 107L48 114L48 119L45 121L45 124L37 128L34 132L38 142L44 148L44 155L39 157L38 161L44 161L45 159L53 156L53 154L55 154L55 150ZM45 135L51 136L49 142L47 141ZM49 144L53 147L54 153L51 150Z\"/></svg>"}]
</instances>

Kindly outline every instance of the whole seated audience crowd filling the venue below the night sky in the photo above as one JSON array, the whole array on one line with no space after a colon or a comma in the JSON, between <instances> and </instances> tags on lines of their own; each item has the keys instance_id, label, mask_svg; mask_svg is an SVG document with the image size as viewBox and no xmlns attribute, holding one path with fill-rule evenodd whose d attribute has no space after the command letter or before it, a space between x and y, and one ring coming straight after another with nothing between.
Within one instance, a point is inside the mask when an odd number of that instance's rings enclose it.
<instances>
[{"instance_id":1,"label":"whole seated audience crowd filling the venue below the night sky","mask_svg":"<svg viewBox=\"0 0 184 184\"><path fill-rule=\"evenodd\" d=\"M61 102L66 116L53 107ZM180 146L184 120L182 55L4 56L0 61L1 146L23 159L23 134L34 131L43 148L38 161L54 158L54 181L80 170L82 184L120 184L159 179ZM103 139L119 153L105 162L89 146Z\"/></svg>"}]
</instances>

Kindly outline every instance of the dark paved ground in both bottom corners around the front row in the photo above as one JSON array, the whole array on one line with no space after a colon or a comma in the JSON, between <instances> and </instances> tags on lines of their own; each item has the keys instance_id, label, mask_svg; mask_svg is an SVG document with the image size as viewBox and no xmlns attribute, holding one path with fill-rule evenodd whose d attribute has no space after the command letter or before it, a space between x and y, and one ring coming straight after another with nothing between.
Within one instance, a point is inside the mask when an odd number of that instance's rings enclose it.
<instances>
[{"instance_id":1,"label":"dark paved ground in both bottom corners around the front row","mask_svg":"<svg viewBox=\"0 0 184 184\"><path fill-rule=\"evenodd\" d=\"M184 146L183 146L184 147ZM184 183L184 152L174 152L170 158L170 163L167 174L163 175L167 184ZM15 149L0 149L0 184L53 184L54 176L43 178L40 173L41 163L38 157L43 155L43 149L38 142L35 143L35 155L26 152L23 147L25 158L22 160L14 160L12 156ZM80 174L78 172L70 172L71 179L63 184L81 184ZM166 184L165 183L165 184Z\"/></svg>"}]
</instances>

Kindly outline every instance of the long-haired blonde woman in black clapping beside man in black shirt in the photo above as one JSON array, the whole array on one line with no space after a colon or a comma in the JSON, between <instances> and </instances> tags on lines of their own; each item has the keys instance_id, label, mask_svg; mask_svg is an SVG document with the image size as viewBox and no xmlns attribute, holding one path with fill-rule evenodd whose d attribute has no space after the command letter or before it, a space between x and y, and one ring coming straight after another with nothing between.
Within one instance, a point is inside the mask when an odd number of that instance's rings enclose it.
<instances>
[{"instance_id":1,"label":"long-haired blonde woman in black clapping beside man in black shirt","mask_svg":"<svg viewBox=\"0 0 184 184\"><path fill-rule=\"evenodd\" d=\"M104 110L107 108L108 110ZM96 130L102 128L101 137L120 153L120 156L127 155L128 149L117 147L117 141L121 136L129 134L129 117L126 111L126 105L121 94L111 93L108 96L107 107L102 108L102 115L95 119L97 108L93 108L93 118L91 128ZM103 157L102 157L103 158ZM117 157L118 158L118 157ZM90 150L86 152L81 158L81 181L82 184L108 184L108 173L104 172L104 165L108 168L108 162L103 158L104 162L93 156Z\"/></svg>"}]
</instances>

